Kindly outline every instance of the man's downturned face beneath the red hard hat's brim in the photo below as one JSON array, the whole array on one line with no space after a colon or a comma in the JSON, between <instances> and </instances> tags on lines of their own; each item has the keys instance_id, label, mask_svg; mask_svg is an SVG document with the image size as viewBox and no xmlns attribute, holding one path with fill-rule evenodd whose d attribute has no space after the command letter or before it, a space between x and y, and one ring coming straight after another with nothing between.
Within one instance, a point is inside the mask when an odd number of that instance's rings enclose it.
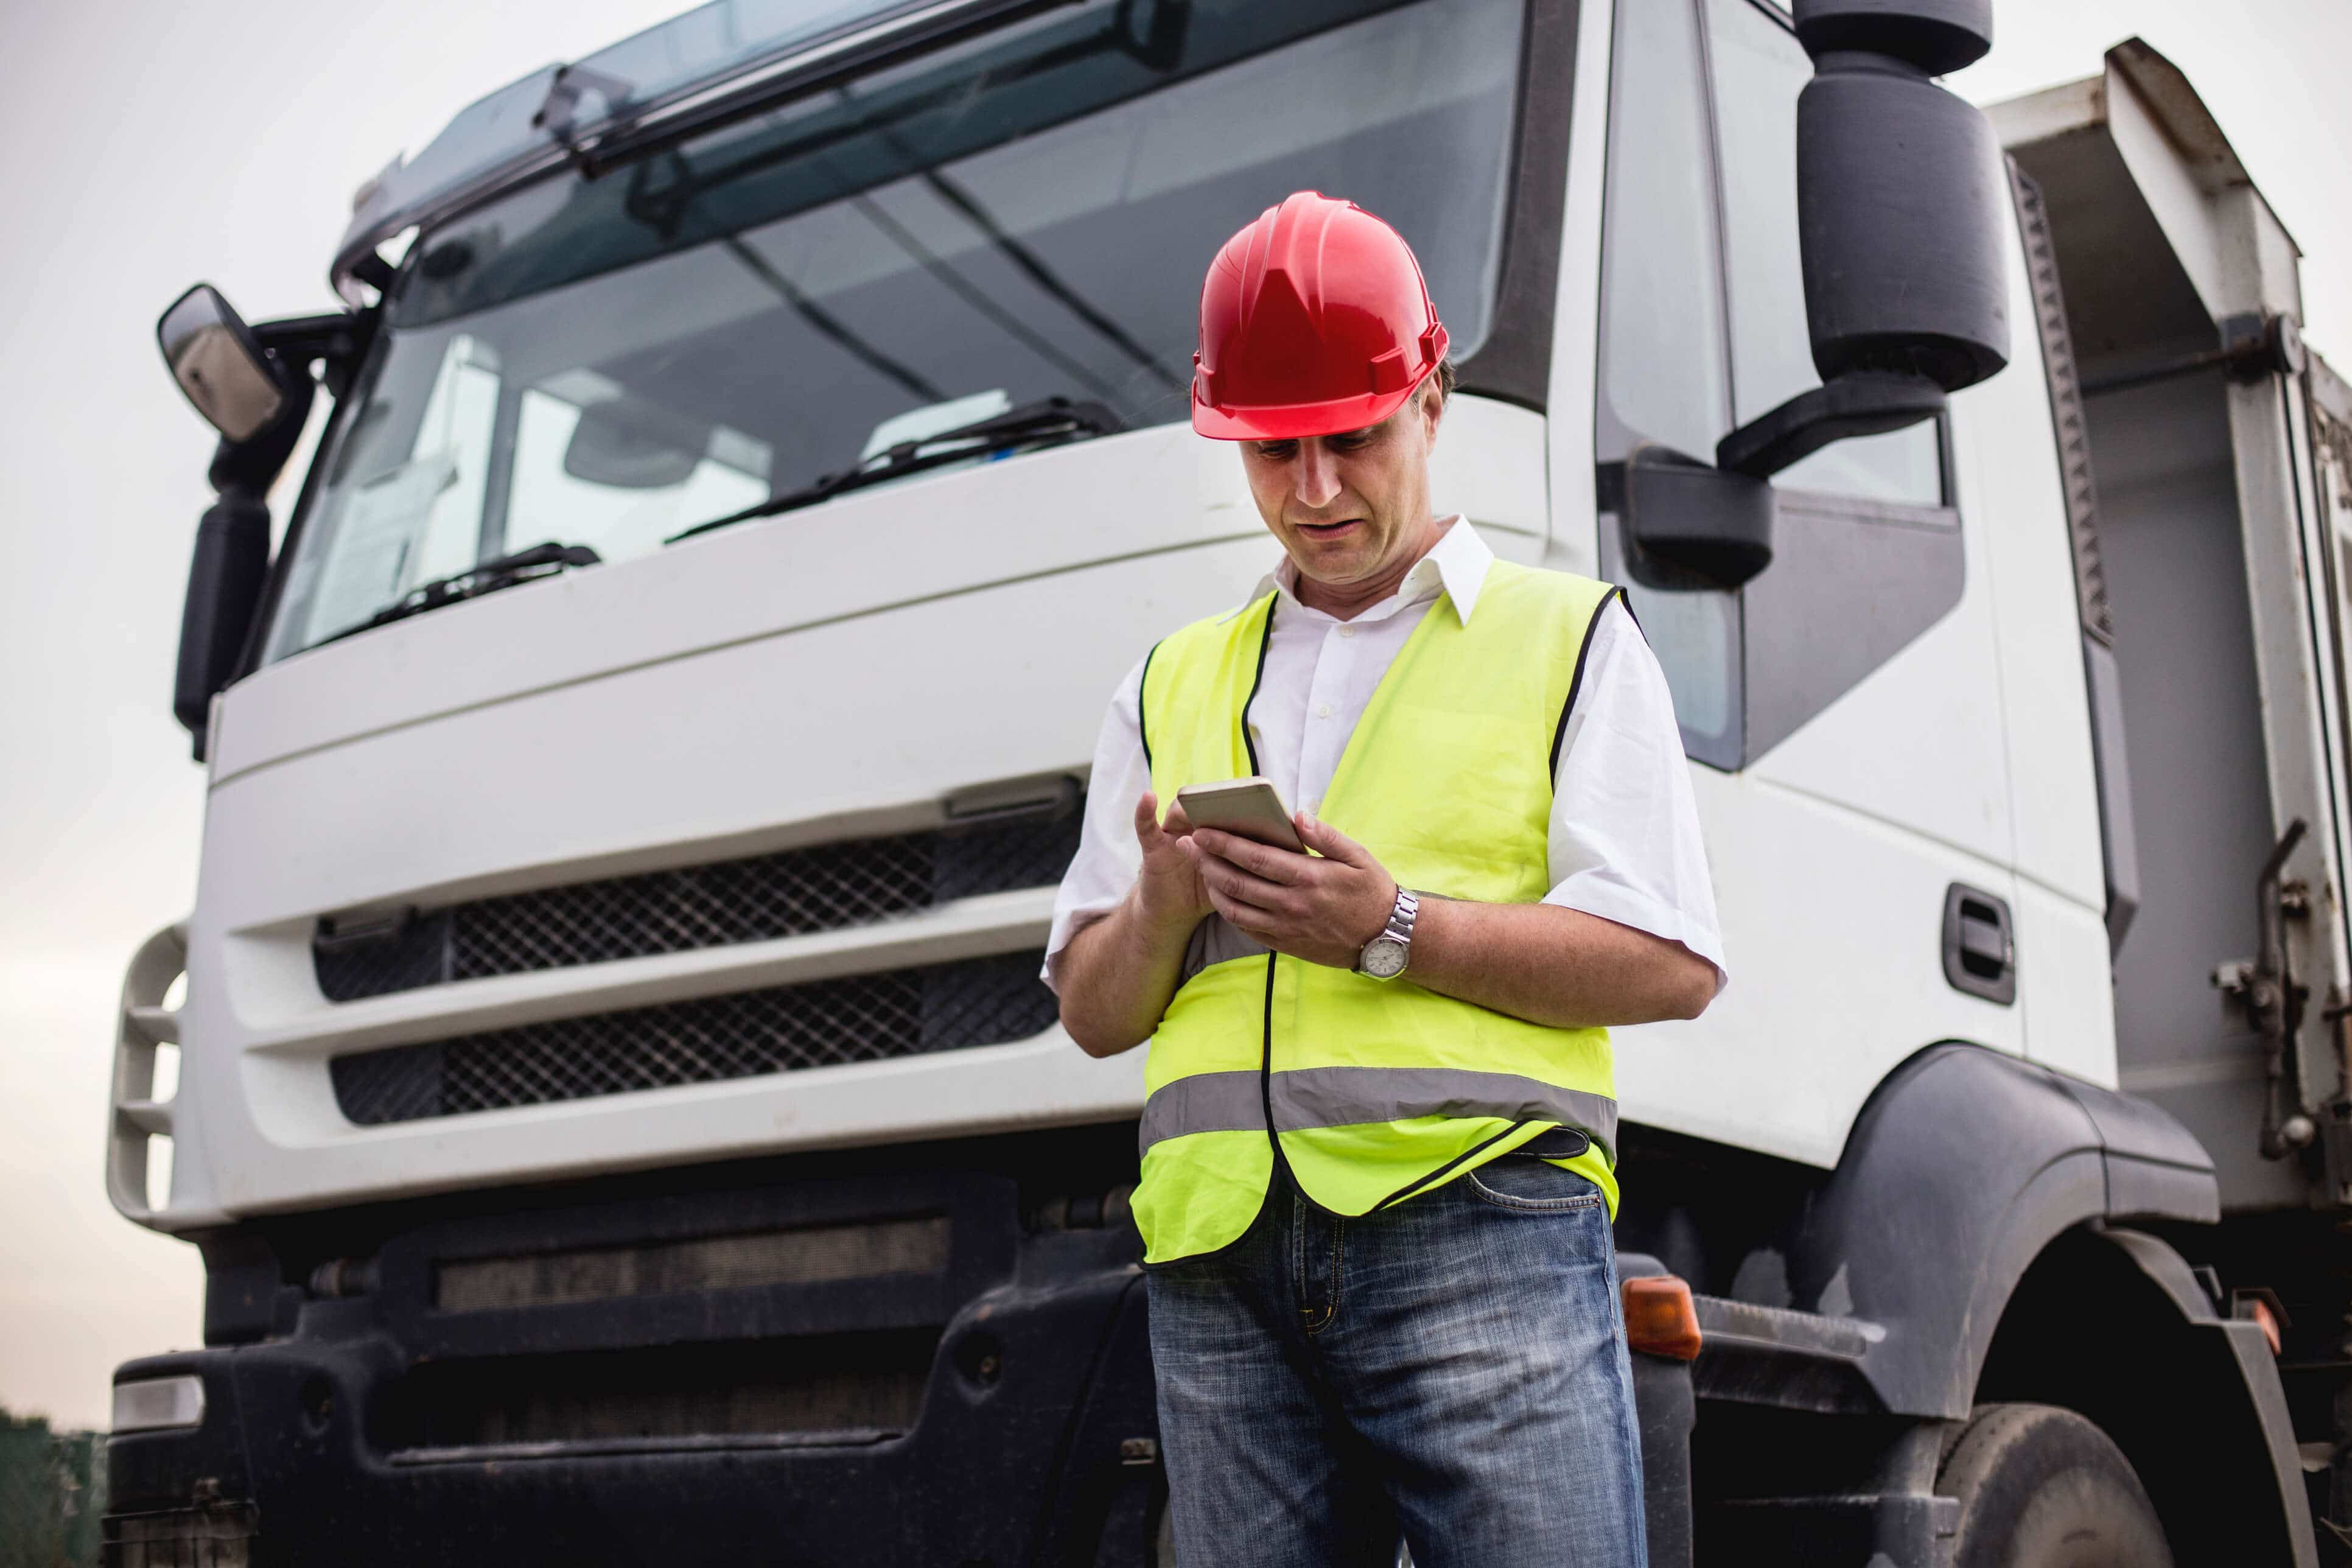
<instances>
[{"instance_id":1,"label":"man's downturned face beneath the red hard hat's brim","mask_svg":"<svg viewBox=\"0 0 2352 1568\"><path fill-rule=\"evenodd\" d=\"M1430 444L1442 400L1435 378L1383 423L1296 442L1240 442L1258 517L1327 588L1378 578L1421 555L1430 520Z\"/></svg>"}]
</instances>

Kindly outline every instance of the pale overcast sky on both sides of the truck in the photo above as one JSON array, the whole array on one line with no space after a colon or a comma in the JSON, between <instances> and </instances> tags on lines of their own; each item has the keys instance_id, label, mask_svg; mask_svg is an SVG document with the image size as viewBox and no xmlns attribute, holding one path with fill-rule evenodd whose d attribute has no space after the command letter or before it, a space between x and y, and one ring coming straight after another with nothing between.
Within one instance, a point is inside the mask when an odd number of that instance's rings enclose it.
<instances>
[{"instance_id":1,"label":"pale overcast sky on both sides of the truck","mask_svg":"<svg viewBox=\"0 0 2352 1568\"><path fill-rule=\"evenodd\" d=\"M463 103L663 0L0 5L0 1403L103 1425L118 1361L200 1340L195 1251L106 1204L122 964L195 889L202 773L169 715L212 437L155 313L334 308L353 188ZM2352 5L1997 0L1980 101L2171 54L2303 242L2307 331L2352 360Z\"/></svg>"}]
</instances>

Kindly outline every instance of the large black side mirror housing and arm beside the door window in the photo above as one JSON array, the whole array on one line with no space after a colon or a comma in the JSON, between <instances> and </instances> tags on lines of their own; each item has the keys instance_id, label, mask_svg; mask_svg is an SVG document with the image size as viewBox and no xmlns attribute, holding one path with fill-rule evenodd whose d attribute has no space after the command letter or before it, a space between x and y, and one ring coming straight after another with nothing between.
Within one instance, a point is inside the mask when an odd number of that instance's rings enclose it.
<instances>
[{"instance_id":1,"label":"large black side mirror housing and arm beside the door window","mask_svg":"<svg viewBox=\"0 0 2352 1568\"><path fill-rule=\"evenodd\" d=\"M2009 362L1992 122L1931 78L1992 47L1992 0L1797 0L1804 310L1823 386L1715 447L1769 477L1851 435L1933 418Z\"/></svg>"}]
</instances>

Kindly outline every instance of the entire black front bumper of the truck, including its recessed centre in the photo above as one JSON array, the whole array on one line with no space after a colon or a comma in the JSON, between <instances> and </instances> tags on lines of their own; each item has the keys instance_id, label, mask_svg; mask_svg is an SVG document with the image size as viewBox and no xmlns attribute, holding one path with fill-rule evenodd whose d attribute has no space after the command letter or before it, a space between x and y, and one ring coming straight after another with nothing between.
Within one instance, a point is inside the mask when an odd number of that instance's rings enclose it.
<instances>
[{"instance_id":1,"label":"entire black front bumper of the truck, including its recessed centre","mask_svg":"<svg viewBox=\"0 0 2352 1568\"><path fill-rule=\"evenodd\" d=\"M108 1441L108 1561L1145 1563L1134 1227L1044 1208L901 1171L395 1220L332 1265L280 1232L254 1291L214 1267L252 1342L115 1373L205 1399Z\"/></svg>"}]
</instances>

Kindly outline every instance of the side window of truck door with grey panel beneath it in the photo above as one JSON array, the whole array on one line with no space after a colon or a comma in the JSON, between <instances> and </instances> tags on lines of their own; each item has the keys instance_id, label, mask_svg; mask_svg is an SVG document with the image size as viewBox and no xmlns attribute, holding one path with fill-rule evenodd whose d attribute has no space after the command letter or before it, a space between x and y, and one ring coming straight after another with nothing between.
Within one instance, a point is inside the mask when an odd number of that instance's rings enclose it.
<instances>
[{"instance_id":1,"label":"side window of truck door with grey panel beneath it","mask_svg":"<svg viewBox=\"0 0 2352 1568\"><path fill-rule=\"evenodd\" d=\"M1943 421L1776 475L1776 559L1740 590L1642 557L1609 510L1642 442L1715 442L1813 388L1797 247L1811 61L1757 0L1618 5L1609 87L1595 456L1602 574L1632 590L1684 750L1738 769L1959 602ZM1867 604L1867 616L1853 607ZM1837 625L1839 635L1823 635Z\"/></svg>"}]
</instances>

